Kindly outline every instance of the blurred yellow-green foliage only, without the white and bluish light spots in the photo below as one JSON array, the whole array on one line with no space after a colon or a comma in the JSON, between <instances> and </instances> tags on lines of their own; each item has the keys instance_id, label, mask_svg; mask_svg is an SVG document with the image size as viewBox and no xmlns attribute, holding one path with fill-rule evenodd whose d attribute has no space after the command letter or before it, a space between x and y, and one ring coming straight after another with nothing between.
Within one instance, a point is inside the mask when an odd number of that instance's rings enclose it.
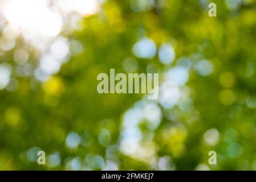
<instances>
[{"instance_id":1,"label":"blurred yellow-green foliage only, without the white and bluish light spots","mask_svg":"<svg viewBox=\"0 0 256 182\"><path fill-rule=\"evenodd\" d=\"M72 55L58 73L42 83L13 73L18 90L0 91L0 169L99 170L109 161L121 170L163 169L165 159L166 169L256 169L256 2L239 1L229 9L227 1L212 1L217 4L217 17L208 16L208 3L203 2L156 0L151 9L135 12L130 1L107 0L99 14L82 20L82 30L68 36L79 40L83 50ZM158 48L171 43L174 63L164 65L157 55L152 59L133 55L133 45L145 36ZM22 39L18 41L26 47ZM2 53L0 61L15 70L13 54ZM151 130L141 123L141 143L149 143L148 152L153 150L151 162L120 149L124 113L143 95L96 92L97 75L109 73L110 68L125 73L127 57L137 61L138 73L153 67L160 73L160 82L180 57L192 63L206 59L214 67L209 76L189 71L184 88L190 90L192 109L177 105L164 109L157 104L162 112L160 125ZM36 65L36 58L31 61ZM212 136L209 130L217 134ZM206 131L213 140L218 135L216 144L204 139ZM80 136L74 149L66 144L71 132ZM30 151L39 148L31 147L39 147L46 156L58 152L60 164L49 166L49 158L45 166L32 162L30 155L35 154ZM213 166L208 164L212 150L217 152Z\"/></svg>"}]
</instances>

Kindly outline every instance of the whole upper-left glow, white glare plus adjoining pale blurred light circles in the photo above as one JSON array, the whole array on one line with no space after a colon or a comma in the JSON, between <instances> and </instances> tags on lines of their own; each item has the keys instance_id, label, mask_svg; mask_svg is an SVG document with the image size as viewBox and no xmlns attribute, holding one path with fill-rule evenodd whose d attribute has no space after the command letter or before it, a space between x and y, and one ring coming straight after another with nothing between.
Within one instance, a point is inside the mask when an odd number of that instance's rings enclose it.
<instances>
[{"instance_id":1,"label":"whole upper-left glow, white glare plus adjoining pale blurred light circles","mask_svg":"<svg viewBox=\"0 0 256 182\"><path fill-rule=\"evenodd\" d=\"M100 1L103 2L103 1ZM67 61L68 54L76 55L83 51L82 44L71 40L70 43L58 35L65 28L65 35L70 35L79 26L82 16L97 13L100 10L97 0L1 0L0 1L0 52L10 51L15 47L15 39L23 40L36 48L36 57L41 56L39 67L32 68L35 77L44 81L58 72L61 64ZM63 26L65 20L65 26ZM50 54L50 55L47 55ZM47 56L43 56L47 55ZM19 49L14 53L18 64L25 64L29 52ZM18 68L20 75L22 67Z\"/></svg>"}]
</instances>

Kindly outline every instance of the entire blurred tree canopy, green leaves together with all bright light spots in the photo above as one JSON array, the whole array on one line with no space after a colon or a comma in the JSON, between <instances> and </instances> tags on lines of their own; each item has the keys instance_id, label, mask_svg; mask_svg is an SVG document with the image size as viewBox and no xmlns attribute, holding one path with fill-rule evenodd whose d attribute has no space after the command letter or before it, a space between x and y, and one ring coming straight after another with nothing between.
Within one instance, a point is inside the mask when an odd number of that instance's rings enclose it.
<instances>
[{"instance_id":1,"label":"entire blurred tree canopy, green leaves together with all bright light spots","mask_svg":"<svg viewBox=\"0 0 256 182\"><path fill-rule=\"evenodd\" d=\"M28 2L0 7L0 169L256 169L256 1ZM110 68L159 99L97 93Z\"/></svg>"}]
</instances>

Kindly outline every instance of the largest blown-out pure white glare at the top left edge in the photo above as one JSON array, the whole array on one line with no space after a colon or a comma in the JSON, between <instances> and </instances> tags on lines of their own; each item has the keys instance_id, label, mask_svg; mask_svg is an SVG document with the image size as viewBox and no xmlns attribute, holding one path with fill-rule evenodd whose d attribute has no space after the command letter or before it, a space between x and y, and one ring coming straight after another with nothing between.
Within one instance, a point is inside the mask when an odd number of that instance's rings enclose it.
<instances>
[{"instance_id":1,"label":"largest blown-out pure white glare at the top left edge","mask_svg":"<svg viewBox=\"0 0 256 182\"><path fill-rule=\"evenodd\" d=\"M12 26L20 28L26 39L34 36L56 36L62 28L62 18L51 12L46 0L11 0L3 14Z\"/></svg>"}]
</instances>

